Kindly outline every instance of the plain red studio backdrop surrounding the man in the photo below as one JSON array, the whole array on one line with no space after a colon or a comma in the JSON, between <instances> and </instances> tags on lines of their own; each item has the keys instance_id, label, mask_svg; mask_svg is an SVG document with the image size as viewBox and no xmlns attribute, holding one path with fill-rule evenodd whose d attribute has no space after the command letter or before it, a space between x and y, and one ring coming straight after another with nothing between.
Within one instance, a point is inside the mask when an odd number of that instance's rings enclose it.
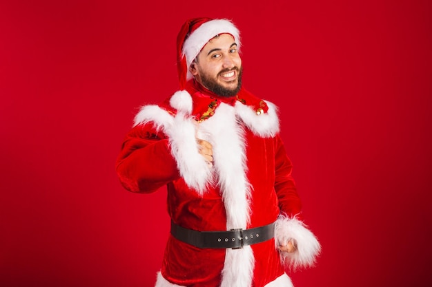
<instances>
[{"instance_id":1,"label":"plain red studio backdrop surrounding the man","mask_svg":"<svg viewBox=\"0 0 432 287\"><path fill-rule=\"evenodd\" d=\"M9 3L5 3L9 2ZM124 190L189 17L233 19L320 238L296 287L431 286L431 1L2 1L0 286L153 286L166 191Z\"/></svg>"}]
</instances>

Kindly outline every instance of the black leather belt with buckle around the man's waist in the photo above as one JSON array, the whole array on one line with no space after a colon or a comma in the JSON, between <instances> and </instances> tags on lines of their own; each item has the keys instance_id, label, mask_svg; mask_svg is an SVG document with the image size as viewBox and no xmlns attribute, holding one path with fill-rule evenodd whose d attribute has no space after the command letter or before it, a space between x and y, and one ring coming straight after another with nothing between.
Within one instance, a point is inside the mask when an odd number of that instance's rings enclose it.
<instances>
[{"instance_id":1,"label":"black leather belt with buckle around the man's waist","mask_svg":"<svg viewBox=\"0 0 432 287\"><path fill-rule=\"evenodd\" d=\"M271 240L275 235L275 223L231 231L195 231L171 221L171 234L177 240L198 248L242 248L246 245Z\"/></svg>"}]
</instances>

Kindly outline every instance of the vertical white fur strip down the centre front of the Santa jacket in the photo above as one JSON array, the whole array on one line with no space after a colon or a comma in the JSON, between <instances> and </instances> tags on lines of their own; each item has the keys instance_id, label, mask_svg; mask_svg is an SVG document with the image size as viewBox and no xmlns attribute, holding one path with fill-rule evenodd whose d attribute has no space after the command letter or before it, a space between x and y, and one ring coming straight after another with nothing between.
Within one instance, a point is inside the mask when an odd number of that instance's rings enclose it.
<instances>
[{"instance_id":1,"label":"vertical white fur strip down the centre front of the Santa jacket","mask_svg":"<svg viewBox=\"0 0 432 287\"><path fill-rule=\"evenodd\" d=\"M235 108L221 103L215 114L199 125L198 134L213 145L215 174L226 210L226 230L245 229L251 190L246 178L244 129L238 123ZM254 262L251 246L227 248L221 287L251 286Z\"/></svg>"}]
</instances>

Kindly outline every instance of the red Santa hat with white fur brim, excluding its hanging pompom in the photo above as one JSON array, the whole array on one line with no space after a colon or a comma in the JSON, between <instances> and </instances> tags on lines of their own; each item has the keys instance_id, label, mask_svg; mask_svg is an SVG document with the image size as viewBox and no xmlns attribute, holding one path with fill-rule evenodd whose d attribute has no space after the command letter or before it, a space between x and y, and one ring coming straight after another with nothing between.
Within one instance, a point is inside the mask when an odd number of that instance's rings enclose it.
<instances>
[{"instance_id":1,"label":"red Santa hat with white fur brim, excluding its hanging pompom","mask_svg":"<svg viewBox=\"0 0 432 287\"><path fill-rule=\"evenodd\" d=\"M180 89L193 78L190 64L198 56L204 45L218 34L230 34L240 48L239 30L227 19L193 18L181 26L177 36L177 72Z\"/></svg>"}]
</instances>

